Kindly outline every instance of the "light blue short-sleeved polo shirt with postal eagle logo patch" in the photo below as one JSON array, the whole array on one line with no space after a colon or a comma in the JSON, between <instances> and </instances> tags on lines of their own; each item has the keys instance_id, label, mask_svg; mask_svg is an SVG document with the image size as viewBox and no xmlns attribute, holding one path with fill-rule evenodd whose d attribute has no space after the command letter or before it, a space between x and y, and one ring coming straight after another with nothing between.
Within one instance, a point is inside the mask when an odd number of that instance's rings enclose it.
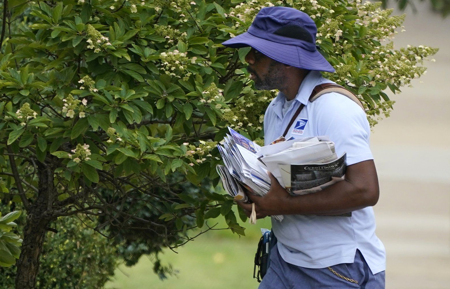
<instances>
[{"instance_id":1,"label":"light blue short-sleeved polo shirt with postal eagle logo patch","mask_svg":"<svg viewBox=\"0 0 450 289\"><path fill-rule=\"evenodd\" d=\"M283 117L283 93L269 104L264 115L265 144L284 133L300 104L302 112L286 138L329 135L338 156L347 153L347 166L373 159L369 148L370 126L364 111L351 99L327 93L309 102L313 88L333 82L318 71L310 71L298 90L294 103ZM372 207L352 212L351 217L286 215L283 221L272 218L272 229L284 261L306 268L325 268L353 263L356 249L363 254L372 274L384 271L386 252L375 235Z\"/></svg>"}]
</instances>

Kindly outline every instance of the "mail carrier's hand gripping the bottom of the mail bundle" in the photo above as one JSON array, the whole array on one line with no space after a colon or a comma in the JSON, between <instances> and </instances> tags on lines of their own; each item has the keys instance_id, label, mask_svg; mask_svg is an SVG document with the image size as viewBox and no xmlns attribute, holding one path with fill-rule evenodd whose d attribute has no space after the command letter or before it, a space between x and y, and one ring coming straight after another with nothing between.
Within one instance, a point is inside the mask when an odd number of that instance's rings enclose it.
<instances>
[{"instance_id":1,"label":"mail carrier's hand gripping the bottom of the mail bundle","mask_svg":"<svg viewBox=\"0 0 450 289\"><path fill-rule=\"evenodd\" d=\"M260 197L252 193L247 193L248 198L255 203L257 219L272 215L283 215L284 209L290 203L291 198L293 198L270 172L269 177L270 190L265 196ZM247 217L250 217L252 204L238 202L238 205L244 209Z\"/></svg>"}]
</instances>

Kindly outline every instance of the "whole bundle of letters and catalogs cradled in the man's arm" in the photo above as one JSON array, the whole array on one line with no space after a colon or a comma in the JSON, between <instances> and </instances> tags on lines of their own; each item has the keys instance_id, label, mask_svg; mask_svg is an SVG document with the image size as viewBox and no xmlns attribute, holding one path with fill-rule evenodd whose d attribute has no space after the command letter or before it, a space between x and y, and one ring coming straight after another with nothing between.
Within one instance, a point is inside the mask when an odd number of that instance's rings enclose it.
<instances>
[{"instance_id":1,"label":"whole bundle of letters and catalogs cradled in the man's arm","mask_svg":"<svg viewBox=\"0 0 450 289\"><path fill-rule=\"evenodd\" d=\"M260 147L229 129L217 148L225 166L217 166L225 190L236 200L251 203L246 188L263 196L270 189L271 172L291 194L323 190L344 179L345 153L338 158L328 136L275 141ZM283 216L274 216L283 220Z\"/></svg>"}]
</instances>

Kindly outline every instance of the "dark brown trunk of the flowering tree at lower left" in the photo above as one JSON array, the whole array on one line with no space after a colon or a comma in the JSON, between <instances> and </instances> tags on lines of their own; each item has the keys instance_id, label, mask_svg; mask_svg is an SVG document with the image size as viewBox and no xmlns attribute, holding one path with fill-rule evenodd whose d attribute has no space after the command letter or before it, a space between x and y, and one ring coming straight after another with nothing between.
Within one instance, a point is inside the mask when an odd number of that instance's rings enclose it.
<instances>
[{"instance_id":1,"label":"dark brown trunk of the flowering tree at lower left","mask_svg":"<svg viewBox=\"0 0 450 289\"><path fill-rule=\"evenodd\" d=\"M23 243L17 262L16 289L35 288L45 231L53 219L48 214L54 199L53 171L40 163L38 169L38 194L27 212L27 223L23 230Z\"/></svg>"}]
</instances>

